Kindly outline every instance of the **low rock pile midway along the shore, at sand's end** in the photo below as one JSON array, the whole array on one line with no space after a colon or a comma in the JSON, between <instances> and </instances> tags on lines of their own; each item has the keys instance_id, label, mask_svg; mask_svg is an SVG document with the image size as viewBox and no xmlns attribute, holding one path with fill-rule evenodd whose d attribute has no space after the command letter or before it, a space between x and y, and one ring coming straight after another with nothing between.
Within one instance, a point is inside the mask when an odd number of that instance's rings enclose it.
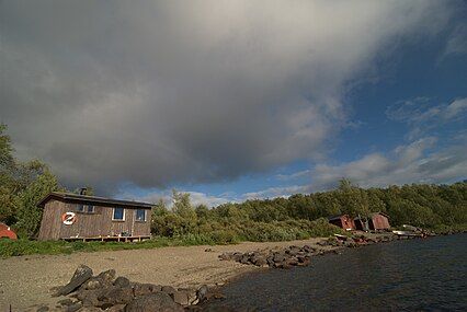
<instances>
[{"instance_id":1,"label":"low rock pile midway along the shore, at sand's end","mask_svg":"<svg viewBox=\"0 0 467 312\"><path fill-rule=\"evenodd\" d=\"M293 266L307 266L310 264L312 255L321 253L323 251L318 251L308 245L303 247L293 245L283 250L223 253L219 258L260 267L291 268Z\"/></svg>"}]
</instances>

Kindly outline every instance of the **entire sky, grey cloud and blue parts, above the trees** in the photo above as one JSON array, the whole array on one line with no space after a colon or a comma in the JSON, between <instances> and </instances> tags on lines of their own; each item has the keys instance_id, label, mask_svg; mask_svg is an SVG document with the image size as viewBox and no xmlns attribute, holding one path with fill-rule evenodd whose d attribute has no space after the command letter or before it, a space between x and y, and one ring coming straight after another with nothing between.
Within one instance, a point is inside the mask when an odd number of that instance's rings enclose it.
<instances>
[{"instance_id":1,"label":"entire sky, grey cloud and blue parts, above the trees","mask_svg":"<svg viewBox=\"0 0 467 312\"><path fill-rule=\"evenodd\" d=\"M467 178L466 1L0 1L0 123L62 185L210 207Z\"/></svg>"}]
</instances>

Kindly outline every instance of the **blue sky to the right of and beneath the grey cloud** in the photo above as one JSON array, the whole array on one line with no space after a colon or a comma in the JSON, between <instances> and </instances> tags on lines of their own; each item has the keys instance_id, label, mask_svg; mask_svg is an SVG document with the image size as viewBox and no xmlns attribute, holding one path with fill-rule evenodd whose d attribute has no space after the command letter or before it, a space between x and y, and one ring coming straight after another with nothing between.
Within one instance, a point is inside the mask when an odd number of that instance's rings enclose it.
<instances>
[{"instance_id":1,"label":"blue sky to the right of and beneath the grey cloud","mask_svg":"<svg viewBox=\"0 0 467 312\"><path fill-rule=\"evenodd\" d=\"M460 14L451 21L451 27L458 27ZM448 27L449 28L449 27ZM425 42L401 44L384 61L378 63L376 74L349 92L346 102L351 105L349 127L333 138L330 152L323 162L342 165L357 161L371 153L390 154L396 148L407 146L417 139L433 137L436 142L423 149L420 159L432 153L442 152L453 146L466 143L467 131L467 34L464 33L464 47L459 53L447 53L446 45L452 36L448 30ZM430 108L446 106L464 101L463 109L455 118L434 125L423 130L418 137L410 137L413 124L394 119L389 109L403 106L413 101L417 109L428 112ZM440 116L434 117L438 119ZM463 152L466 152L463 149ZM466 155L463 157L464 159ZM174 189L191 192L197 203L217 205L224 201L241 201L248 198L267 198L288 196L297 192L318 192L332 188L331 183L323 187L308 187L312 184L312 167L320 161L298 160L278 166L263 174L243 175L235 181L214 184L180 184ZM453 183L467 178L466 162L463 170L454 176L442 180L423 180L410 177L403 183ZM295 175L295 176L294 176ZM342 177L349 177L344 174ZM390 183L388 183L390 184ZM386 186L388 184L368 184L365 186ZM400 184L400 183L396 183ZM169 196L162 189L138 189L129 193L145 198L153 194ZM157 196L158 196L157 195Z\"/></svg>"}]
</instances>

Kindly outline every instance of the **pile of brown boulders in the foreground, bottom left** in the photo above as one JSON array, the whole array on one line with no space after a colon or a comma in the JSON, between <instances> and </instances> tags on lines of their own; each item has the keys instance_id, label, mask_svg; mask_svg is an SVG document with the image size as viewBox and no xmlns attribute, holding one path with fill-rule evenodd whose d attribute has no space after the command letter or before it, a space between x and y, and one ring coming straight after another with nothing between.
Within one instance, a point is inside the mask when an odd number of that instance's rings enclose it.
<instances>
[{"instance_id":1,"label":"pile of brown boulders in the foreground, bottom left","mask_svg":"<svg viewBox=\"0 0 467 312\"><path fill-rule=\"evenodd\" d=\"M185 308L204 301L208 296L206 286L200 289L175 289L171 286L133 282L126 277L116 277L114 269L93 276L92 269L79 266L71 280L56 289L55 296L68 296L49 309L37 311L185 311Z\"/></svg>"}]
</instances>

